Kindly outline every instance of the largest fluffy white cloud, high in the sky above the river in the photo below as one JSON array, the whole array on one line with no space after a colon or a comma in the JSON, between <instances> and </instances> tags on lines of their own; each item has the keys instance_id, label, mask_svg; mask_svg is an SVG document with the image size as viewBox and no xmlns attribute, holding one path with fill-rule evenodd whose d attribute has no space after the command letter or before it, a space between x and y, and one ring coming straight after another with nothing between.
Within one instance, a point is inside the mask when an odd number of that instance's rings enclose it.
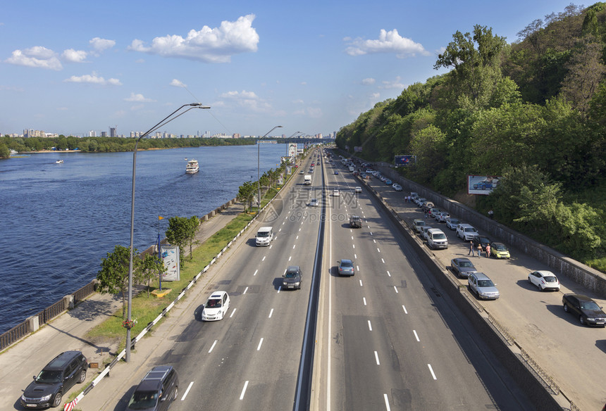
<instances>
[{"instance_id":1,"label":"largest fluffy white cloud, high in the sky above the river","mask_svg":"<svg viewBox=\"0 0 606 411\"><path fill-rule=\"evenodd\" d=\"M185 38L178 34L156 37L151 46L135 39L128 49L205 63L229 63L234 54L257 50L259 34L252 27L254 18L254 14L249 14L235 22L224 20L221 27L212 29L205 25L199 31L190 30Z\"/></svg>"}]
</instances>

